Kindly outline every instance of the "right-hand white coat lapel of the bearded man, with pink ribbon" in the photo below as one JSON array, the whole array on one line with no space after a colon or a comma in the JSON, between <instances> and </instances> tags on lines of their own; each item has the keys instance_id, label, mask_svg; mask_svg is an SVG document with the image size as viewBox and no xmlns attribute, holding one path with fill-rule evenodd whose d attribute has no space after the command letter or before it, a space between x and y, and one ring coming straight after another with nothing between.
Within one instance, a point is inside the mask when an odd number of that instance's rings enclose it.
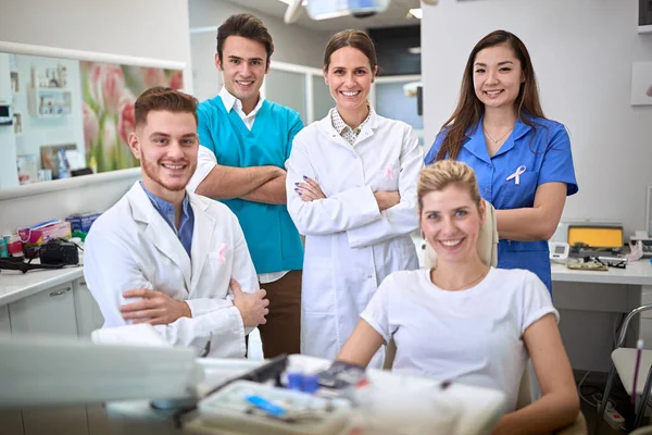
<instances>
[{"instance_id":1,"label":"right-hand white coat lapel of the bearded man, with pink ribbon","mask_svg":"<svg viewBox=\"0 0 652 435\"><path fill-rule=\"evenodd\" d=\"M206 213L209 204L192 194L190 195L190 206L195 212L195 228L192 231L192 248L190 253L192 257L192 281L190 283L190 296L197 289L201 270L206 262L206 257L211 251L213 243L213 233L215 232L215 219Z\"/></svg>"}]
</instances>

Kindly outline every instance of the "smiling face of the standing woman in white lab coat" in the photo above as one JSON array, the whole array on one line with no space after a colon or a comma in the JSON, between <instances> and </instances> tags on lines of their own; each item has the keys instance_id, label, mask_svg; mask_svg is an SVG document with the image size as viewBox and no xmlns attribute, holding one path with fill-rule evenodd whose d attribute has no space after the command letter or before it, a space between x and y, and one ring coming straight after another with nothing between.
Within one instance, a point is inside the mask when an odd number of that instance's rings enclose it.
<instances>
[{"instance_id":1,"label":"smiling face of the standing woman in white lab coat","mask_svg":"<svg viewBox=\"0 0 652 435\"><path fill-rule=\"evenodd\" d=\"M330 54L324 79L338 111L366 110L366 99L377 70L372 70L367 57L353 47L342 47Z\"/></svg>"}]
</instances>

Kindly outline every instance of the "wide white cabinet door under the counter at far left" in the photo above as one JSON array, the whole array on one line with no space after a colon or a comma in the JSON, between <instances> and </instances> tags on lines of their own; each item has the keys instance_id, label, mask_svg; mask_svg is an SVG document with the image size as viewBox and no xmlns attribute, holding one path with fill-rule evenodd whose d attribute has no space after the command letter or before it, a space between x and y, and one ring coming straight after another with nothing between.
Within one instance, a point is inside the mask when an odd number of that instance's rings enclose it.
<instances>
[{"instance_id":1,"label":"wide white cabinet door under the counter at far left","mask_svg":"<svg viewBox=\"0 0 652 435\"><path fill-rule=\"evenodd\" d=\"M11 332L77 336L73 283L28 296L9 306Z\"/></svg>"}]
</instances>

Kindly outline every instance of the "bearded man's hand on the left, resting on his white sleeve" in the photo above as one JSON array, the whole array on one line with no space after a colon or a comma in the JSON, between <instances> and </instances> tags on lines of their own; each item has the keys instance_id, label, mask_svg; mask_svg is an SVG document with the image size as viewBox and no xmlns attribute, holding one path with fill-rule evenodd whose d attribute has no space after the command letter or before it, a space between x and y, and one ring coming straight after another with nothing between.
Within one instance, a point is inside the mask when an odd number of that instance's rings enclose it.
<instances>
[{"instance_id":1,"label":"bearded man's hand on the left, resting on his white sleeve","mask_svg":"<svg viewBox=\"0 0 652 435\"><path fill-rule=\"evenodd\" d=\"M123 293L125 298L142 298L137 302L125 303L120 307L124 320L133 323L149 323L152 325L167 325L180 318L191 318L190 307L183 300L176 300L163 291L135 288Z\"/></svg>"}]
</instances>

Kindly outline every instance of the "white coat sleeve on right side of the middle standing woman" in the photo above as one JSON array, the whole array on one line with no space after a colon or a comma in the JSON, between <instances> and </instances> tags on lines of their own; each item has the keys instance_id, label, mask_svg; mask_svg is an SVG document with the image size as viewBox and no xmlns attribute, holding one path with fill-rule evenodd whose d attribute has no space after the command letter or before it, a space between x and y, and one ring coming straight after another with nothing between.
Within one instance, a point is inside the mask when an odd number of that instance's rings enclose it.
<instances>
[{"instance_id":1,"label":"white coat sleeve on right side of the middle standing woman","mask_svg":"<svg viewBox=\"0 0 652 435\"><path fill-rule=\"evenodd\" d=\"M418 138L412 128L404 135L399 170L398 204L383 212L383 216L366 225L347 231L349 246L362 248L385 241L398 236L410 234L418 228L416 212L416 183L424 167L424 154L418 145Z\"/></svg>"}]
</instances>

